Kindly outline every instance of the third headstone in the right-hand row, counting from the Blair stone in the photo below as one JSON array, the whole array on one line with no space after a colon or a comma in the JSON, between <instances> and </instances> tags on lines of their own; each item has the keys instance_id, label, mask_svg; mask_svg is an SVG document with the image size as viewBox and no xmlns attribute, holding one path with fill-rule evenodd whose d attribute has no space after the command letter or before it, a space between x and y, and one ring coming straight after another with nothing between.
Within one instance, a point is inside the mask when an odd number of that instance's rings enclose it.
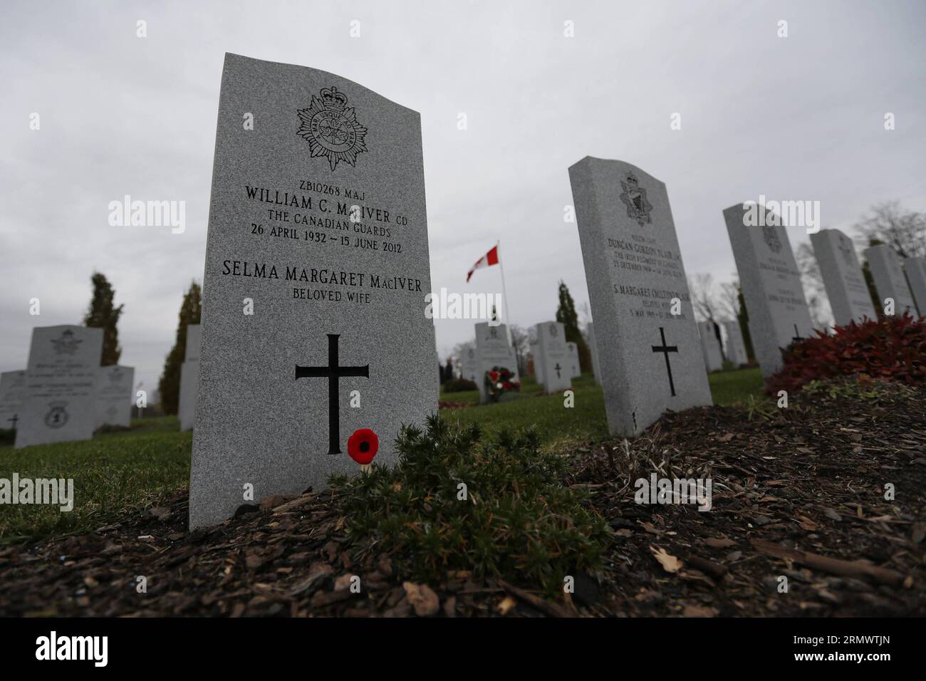
<instances>
[{"instance_id":1,"label":"third headstone in the right-hand row, counting from the Blair stone","mask_svg":"<svg viewBox=\"0 0 926 681\"><path fill-rule=\"evenodd\" d=\"M810 234L810 243L836 325L861 322L866 317L878 319L852 239L839 230L820 230Z\"/></svg>"}]
</instances>

